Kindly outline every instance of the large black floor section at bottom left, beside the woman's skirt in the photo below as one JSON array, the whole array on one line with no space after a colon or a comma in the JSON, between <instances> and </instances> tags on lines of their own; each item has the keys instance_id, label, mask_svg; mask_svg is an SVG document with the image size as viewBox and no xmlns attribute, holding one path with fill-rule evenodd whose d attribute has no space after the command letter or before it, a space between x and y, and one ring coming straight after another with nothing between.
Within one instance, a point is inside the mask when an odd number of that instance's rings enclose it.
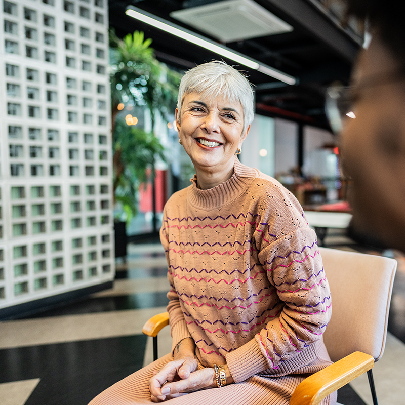
<instances>
[{"instance_id":1,"label":"large black floor section at bottom left, beside the woman's skirt","mask_svg":"<svg viewBox=\"0 0 405 405\"><path fill-rule=\"evenodd\" d=\"M146 336L0 350L0 382L41 378L25 405L86 405L142 367Z\"/></svg>"}]
</instances>

